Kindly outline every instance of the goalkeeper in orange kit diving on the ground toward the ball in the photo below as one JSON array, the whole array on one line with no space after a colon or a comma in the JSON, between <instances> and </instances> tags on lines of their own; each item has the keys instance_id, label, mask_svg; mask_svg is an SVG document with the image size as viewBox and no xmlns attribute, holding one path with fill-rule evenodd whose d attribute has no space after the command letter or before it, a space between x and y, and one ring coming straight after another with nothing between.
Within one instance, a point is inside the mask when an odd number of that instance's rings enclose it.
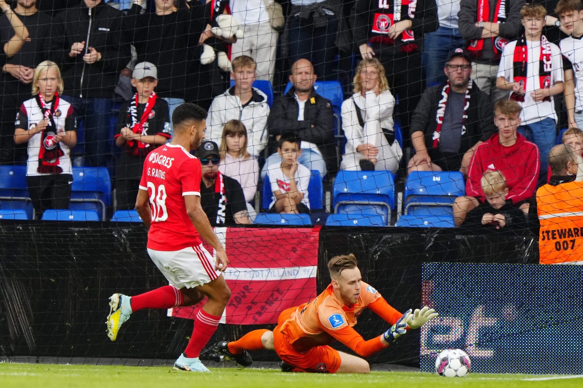
<instances>
[{"instance_id":1,"label":"goalkeeper in orange kit diving on the ground toward the ball","mask_svg":"<svg viewBox=\"0 0 583 388\"><path fill-rule=\"evenodd\" d=\"M361 357L369 357L388 347L407 329L421 327L437 313L424 307L401 314L392 308L371 285L362 281L356 258L335 256L328 262L332 282L312 301L283 311L278 326L254 330L237 341L220 341L219 352L238 364L249 366L248 350L275 350L282 370L290 372L368 373L368 362L329 346L340 341ZM365 341L353 326L364 309L370 309L391 324L378 337Z\"/></svg>"}]
</instances>

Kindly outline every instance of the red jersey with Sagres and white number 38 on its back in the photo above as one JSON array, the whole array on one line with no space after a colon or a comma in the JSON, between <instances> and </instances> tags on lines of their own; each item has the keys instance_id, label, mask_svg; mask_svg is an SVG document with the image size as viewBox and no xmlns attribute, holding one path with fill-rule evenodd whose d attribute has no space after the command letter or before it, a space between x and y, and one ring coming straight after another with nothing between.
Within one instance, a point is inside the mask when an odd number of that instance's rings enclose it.
<instances>
[{"instance_id":1,"label":"red jersey with Sagres and white number 38 on its back","mask_svg":"<svg viewBox=\"0 0 583 388\"><path fill-rule=\"evenodd\" d=\"M201 162L182 146L166 144L150 152L144 163L140 189L150 198L152 225L147 247L179 251L201 244L184 204L185 195L201 196Z\"/></svg>"}]
</instances>

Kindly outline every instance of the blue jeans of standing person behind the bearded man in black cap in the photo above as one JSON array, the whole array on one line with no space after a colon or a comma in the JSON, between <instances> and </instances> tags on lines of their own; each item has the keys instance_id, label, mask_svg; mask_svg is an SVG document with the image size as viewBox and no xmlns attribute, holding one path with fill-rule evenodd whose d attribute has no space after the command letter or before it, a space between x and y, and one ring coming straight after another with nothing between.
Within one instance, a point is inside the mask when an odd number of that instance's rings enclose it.
<instances>
[{"instance_id":1,"label":"blue jeans of standing person behind the bearded man in black cap","mask_svg":"<svg viewBox=\"0 0 583 388\"><path fill-rule=\"evenodd\" d=\"M463 39L457 29L439 27L435 32L425 34L422 63L425 69L427 87L445 82L443 68L449 51L463 47Z\"/></svg>"}]
</instances>

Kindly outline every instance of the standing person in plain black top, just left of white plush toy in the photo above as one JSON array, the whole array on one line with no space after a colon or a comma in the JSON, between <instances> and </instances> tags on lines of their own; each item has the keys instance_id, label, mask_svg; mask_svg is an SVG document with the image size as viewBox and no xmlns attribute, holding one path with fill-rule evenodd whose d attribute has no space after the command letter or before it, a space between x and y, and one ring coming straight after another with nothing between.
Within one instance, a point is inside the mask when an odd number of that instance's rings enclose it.
<instances>
[{"instance_id":1,"label":"standing person in plain black top, just left of white plush toy","mask_svg":"<svg viewBox=\"0 0 583 388\"><path fill-rule=\"evenodd\" d=\"M138 62L150 62L161 77L156 89L168 103L170 117L184 101L197 101L205 109L212 98L212 65L201 65L203 34L209 19L209 5L184 0L154 0L154 12L145 12L145 0L136 1L125 17L129 41ZM124 63L124 65L127 62Z\"/></svg>"}]
</instances>

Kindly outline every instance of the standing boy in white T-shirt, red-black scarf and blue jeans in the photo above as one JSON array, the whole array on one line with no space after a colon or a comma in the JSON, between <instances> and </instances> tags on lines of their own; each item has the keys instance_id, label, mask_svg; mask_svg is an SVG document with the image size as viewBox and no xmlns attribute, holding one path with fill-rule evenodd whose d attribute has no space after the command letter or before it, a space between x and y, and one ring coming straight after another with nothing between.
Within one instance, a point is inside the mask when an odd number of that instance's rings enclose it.
<instances>
[{"instance_id":1,"label":"standing boy in white T-shirt, red-black scarf and blue jeans","mask_svg":"<svg viewBox=\"0 0 583 388\"><path fill-rule=\"evenodd\" d=\"M561 50L542 34L546 10L527 4L520 11L525 34L504 47L496 86L511 90L511 100L522 106L518 133L540 151L539 186L547 182L546 155L557 141L557 114L553 96L563 91Z\"/></svg>"}]
</instances>

